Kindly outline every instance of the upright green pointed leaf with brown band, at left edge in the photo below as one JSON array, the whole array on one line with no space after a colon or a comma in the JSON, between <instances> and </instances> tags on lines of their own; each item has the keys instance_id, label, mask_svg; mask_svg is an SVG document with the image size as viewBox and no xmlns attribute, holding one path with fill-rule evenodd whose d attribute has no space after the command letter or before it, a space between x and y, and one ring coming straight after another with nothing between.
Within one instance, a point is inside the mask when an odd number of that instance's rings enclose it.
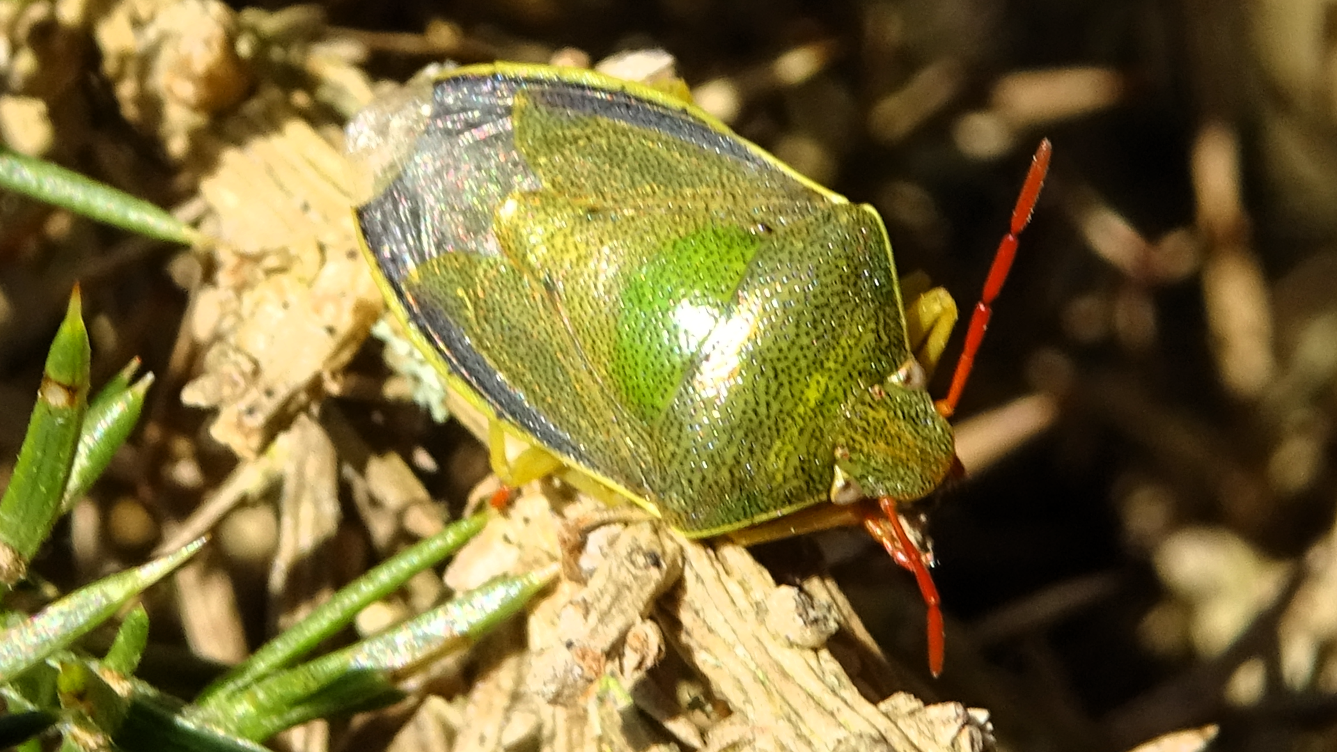
<instances>
[{"instance_id":1,"label":"upright green pointed leaf with brown band, at left edge","mask_svg":"<svg viewBox=\"0 0 1337 752\"><path fill-rule=\"evenodd\" d=\"M13 478L0 498L0 587L23 579L28 562L60 515L66 480L88 403L88 332L79 289L47 355L37 404L19 450Z\"/></svg>"}]
</instances>

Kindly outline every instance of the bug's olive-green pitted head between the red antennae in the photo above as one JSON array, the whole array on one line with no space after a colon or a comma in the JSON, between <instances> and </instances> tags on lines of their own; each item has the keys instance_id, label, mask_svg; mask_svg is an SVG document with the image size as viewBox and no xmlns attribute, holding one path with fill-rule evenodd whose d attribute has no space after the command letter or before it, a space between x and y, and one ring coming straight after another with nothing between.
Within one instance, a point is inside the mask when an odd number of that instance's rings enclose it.
<instances>
[{"instance_id":1,"label":"bug's olive-green pitted head between the red antennae","mask_svg":"<svg viewBox=\"0 0 1337 752\"><path fill-rule=\"evenodd\" d=\"M909 359L882 384L861 389L844 409L836 436L832 502L890 496L920 499L956 464L952 427L925 391L924 369Z\"/></svg>"}]
</instances>

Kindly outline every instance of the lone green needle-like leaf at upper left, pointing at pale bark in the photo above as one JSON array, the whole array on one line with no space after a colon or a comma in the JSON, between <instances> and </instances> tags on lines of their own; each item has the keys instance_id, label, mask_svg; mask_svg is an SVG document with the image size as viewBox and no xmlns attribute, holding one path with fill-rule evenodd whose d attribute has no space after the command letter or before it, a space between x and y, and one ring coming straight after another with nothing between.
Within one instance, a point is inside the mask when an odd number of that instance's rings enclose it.
<instances>
[{"instance_id":1,"label":"lone green needle-like leaf at upper left, pointing at pale bark","mask_svg":"<svg viewBox=\"0 0 1337 752\"><path fill-rule=\"evenodd\" d=\"M0 187L160 241L205 244L199 230L147 201L4 149L0 149Z\"/></svg>"}]
</instances>

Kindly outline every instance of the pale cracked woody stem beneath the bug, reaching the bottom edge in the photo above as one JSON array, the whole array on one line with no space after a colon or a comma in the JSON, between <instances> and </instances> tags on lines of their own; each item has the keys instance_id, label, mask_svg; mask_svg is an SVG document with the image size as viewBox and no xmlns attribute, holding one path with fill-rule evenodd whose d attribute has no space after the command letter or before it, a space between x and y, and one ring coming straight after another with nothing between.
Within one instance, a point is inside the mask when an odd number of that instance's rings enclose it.
<instances>
[{"instance_id":1,"label":"pale cracked woody stem beneath the bug, reaching the bottom edge","mask_svg":"<svg viewBox=\"0 0 1337 752\"><path fill-rule=\"evenodd\" d=\"M532 566L536 550L545 549L548 561L571 555L556 529L590 515L582 507L562 521L551 511L568 500L552 486L531 488L461 551L448 582L459 587ZM507 728L544 751L992 748L981 711L925 705L905 692L881 702L865 697L861 685L896 674L870 670L880 656L858 648L853 636L862 628L848 606L828 599L829 589L777 587L745 549L686 541L656 522L615 535L586 537L587 549L602 550L583 554L599 563L587 583L564 581L529 609L523 649L503 661L488 642L468 698L477 712L465 713L479 736L457 749L483 749L484 737L496 741ZM529 565L520 563L521 551ZM822 640L833 618L842 648L874 681L856 684ZM814 629L796 641L796 624ZM535 719L536 728L527 725Z\"/></svg>"}]
</instances>

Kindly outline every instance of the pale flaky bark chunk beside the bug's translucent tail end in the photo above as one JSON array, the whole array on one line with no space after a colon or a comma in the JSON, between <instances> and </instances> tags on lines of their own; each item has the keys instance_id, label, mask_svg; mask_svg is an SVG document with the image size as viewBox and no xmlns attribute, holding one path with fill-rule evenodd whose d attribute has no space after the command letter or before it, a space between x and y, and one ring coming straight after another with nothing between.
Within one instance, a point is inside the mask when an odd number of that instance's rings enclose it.
<instances>
[{"instance_id":1,"label":"pale flaky bark chunk beside the bug's translucent tail end","mask_svg":"<svg viewBox=\"0 0 1337 752\"><path fill-rule=\"evenodd\" d=\"M201 139L201 194L222 246L207 371L182 400L215 439L258 454L366 339L384 308L358 249L340 151L265 90ZM207 157L207 158L206 158Z\"/></svg>"}]
</instances>

